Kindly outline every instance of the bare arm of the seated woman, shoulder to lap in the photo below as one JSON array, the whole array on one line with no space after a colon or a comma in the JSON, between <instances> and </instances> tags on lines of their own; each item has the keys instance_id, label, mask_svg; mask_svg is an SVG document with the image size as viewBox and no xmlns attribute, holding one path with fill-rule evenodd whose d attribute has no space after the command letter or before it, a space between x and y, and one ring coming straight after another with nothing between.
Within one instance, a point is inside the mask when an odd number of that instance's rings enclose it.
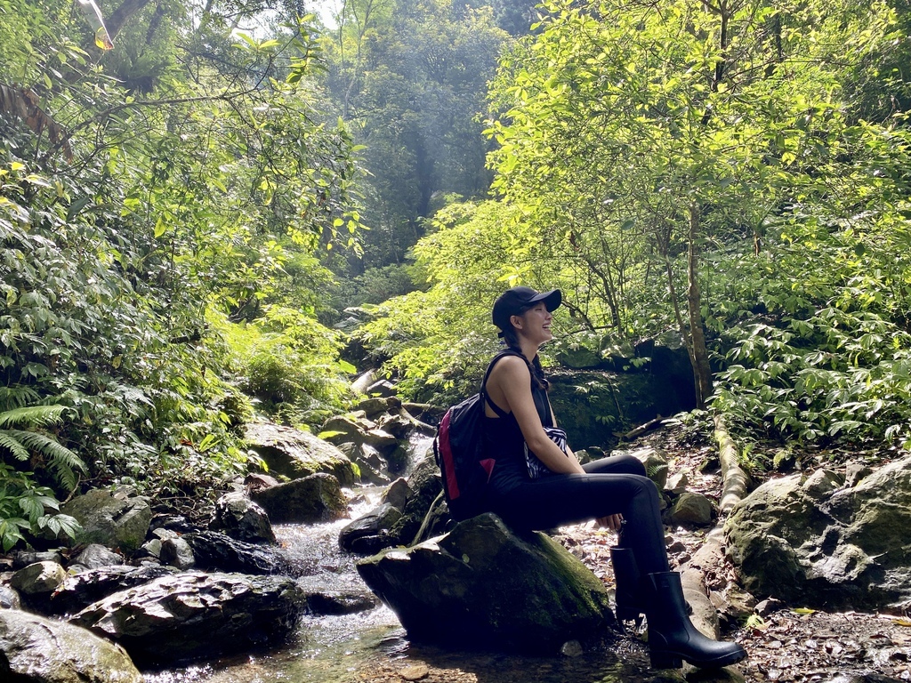
<instances>
[{"instance_id":1,"label":"bare arm of the seated woman, shoulder to lap","mask_svg":"<svg viewBox=\"0 0 911 683\"><path fill-rule=\"evenodd\" d=\"M487 387L487 392L492 394L496 403L501 406L502 403L507 403L508 410L516 416L528 448L551 472L585 472L575 457L567 457L545 433L537 414L535 399L531 395L531 372L525 361L517 356L507 356L497 362L487 380ZM503 402L497 400L500 396L503 397Z\"/></svg>"}]
</instances>

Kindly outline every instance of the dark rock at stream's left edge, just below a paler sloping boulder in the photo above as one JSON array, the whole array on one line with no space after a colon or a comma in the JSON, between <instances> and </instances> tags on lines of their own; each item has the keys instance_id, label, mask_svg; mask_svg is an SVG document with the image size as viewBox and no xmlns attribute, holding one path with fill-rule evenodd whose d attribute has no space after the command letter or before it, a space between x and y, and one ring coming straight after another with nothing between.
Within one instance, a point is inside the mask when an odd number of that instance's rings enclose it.
<instances>
[{"instance_id":1,"label":"dark rock at stream's left edge, just below a paler sloping boulder","mask_svg":"<svg viewBox=\"0 0 911 683\"><path fill-rule=\"evenodd\" d=\"M341 519L348 512L338 479L332 474L311 474L253 494L273 524L313 523Z\"/></svg>"}]
</instances>

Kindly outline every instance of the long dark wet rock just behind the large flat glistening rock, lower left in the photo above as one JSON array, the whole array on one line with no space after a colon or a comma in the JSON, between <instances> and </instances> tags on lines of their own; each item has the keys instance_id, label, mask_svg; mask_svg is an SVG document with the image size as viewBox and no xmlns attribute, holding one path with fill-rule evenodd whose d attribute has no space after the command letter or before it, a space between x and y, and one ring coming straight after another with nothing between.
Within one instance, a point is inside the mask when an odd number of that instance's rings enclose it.
<instances>
[{"instance_id":1,"label":"long dark wet rock just behind the large flat glistening rock, lower left","mask_svg":"<svg viewBox=\"0 0 911 683\"><path fill-rule=\"evenodd\" d=\"M161 576L169 576L177 570L171 566L104 566L90 569L82 574L67 576L57 586L50 599L51 614L76 614L112 593L126 588L147 584Z\"/></svg>"}]
</instances>

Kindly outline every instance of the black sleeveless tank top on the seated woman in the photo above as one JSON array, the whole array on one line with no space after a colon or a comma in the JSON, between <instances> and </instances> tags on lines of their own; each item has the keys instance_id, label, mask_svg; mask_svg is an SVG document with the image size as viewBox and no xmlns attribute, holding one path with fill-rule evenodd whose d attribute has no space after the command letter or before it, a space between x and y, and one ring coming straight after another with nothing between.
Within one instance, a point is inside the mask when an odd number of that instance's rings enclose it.
<instances>
[{"instance_id":1,"label":"black sleeveless tank top on the seated woman","mask_svg":"<svg viewBox=\"0 0 911 683\"><path fill-rule=\"evenodd\" d=\"M487 367L486 375L489 376L496 362L507 355L518 355L525 360L525 356L517 352L498 353ZM552 427L553 420L550 414L548 392L538 386L535 381L535 372L531 363L528 363L528 372L532 374L531 396L535 401L537 415L541 418L542 425ZM487 399L487 405L499 415L499 417L488 417L485 414L483 422L486 456L496 460L494 470L490 475L490 490L494 495L505 494L518 484L529 481L528 468L525 463L525 437L522 435L522 430L519 429L513 413L507 413L489 399Z\"/></svg>"}]
</instances>

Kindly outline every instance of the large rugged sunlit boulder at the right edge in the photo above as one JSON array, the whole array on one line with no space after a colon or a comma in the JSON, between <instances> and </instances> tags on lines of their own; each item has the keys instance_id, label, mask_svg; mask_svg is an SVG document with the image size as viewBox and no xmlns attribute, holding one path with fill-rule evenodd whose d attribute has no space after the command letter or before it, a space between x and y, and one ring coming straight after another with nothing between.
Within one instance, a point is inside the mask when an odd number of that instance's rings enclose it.
<instances>
[{"instance_id":1,"label":"large rugged sunlit boulder at the right edge","mask_svg":"<svg viewBox=\"0 0 911 683\"><path fill-rule=\"evenodd\" d=\"M842 482L824 470L774 479L733 508L724 531L747 590L819 608L911 601L911 458Z\"/></svg>"}]
</instances>

